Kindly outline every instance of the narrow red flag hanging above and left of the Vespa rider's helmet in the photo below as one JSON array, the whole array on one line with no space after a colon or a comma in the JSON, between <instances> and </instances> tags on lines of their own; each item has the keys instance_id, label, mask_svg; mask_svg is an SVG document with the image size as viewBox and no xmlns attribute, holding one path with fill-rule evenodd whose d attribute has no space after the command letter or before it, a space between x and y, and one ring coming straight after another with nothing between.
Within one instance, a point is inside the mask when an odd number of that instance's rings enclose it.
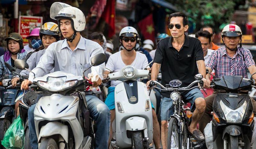
<instances>
[{"instance_id":1,"label":"narrow red flag hanging above and left of the Vespa rider's helmet","mask_svg":"<svg viewBox=\"0 0 256 149\"><path fill-rule=\"evenodd\" d=\"M111 38L115 33L115 9L116 0L107 0L106 7L102 13L102 18L108 24L108 37Z\"/></svg>"}]
</instances>

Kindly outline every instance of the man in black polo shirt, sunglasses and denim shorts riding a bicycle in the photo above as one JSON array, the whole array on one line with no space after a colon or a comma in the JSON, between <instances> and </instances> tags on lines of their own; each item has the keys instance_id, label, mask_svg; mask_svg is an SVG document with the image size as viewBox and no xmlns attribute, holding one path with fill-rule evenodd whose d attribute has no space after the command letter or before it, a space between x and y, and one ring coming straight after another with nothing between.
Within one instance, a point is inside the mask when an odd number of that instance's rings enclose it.
<instances>
[{"instance_id":1,"label":"man in black polo shirt, sunglasses and denim shorts riding a bicycle","mask_svg":"<svg viewBox=\"0 0 256 149\"><path fill-rule=\"evenodd\" d=\"M151 80L155 81L157 79L161 66L161 83L164 86L169 84L171 80L177 79L182 82L181 87L186 87L195 81L194 76L198 73L203 75L204 86L206 86L206 69L201 43L198 39L185 35L188 30L188 18L182 12L176 12L170 15L169 22L168 27L172 36L162 39L157 45ZM149 86L150 81L148 81L147 86ZM166 149L168 116L173 114L173 110L170 92L162 91L161 93L163 95L161 103L161 140L163 149ZM191 103L190 109L193 112L188 130L196 140L203 141L204 134L196 129L196 125L204 114L206 106L204 96L198 88L180 93L183 99Z\"/></svg>"}]
</instances>

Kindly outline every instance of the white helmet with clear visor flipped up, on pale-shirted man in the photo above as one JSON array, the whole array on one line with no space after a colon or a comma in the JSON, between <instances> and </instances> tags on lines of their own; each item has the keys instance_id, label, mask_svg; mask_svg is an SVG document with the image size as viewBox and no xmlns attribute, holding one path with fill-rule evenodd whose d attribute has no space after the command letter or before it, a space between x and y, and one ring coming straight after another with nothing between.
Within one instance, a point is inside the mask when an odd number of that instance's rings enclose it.
<instances>
[{"instance_id":1,"label":"white helmet with clear visor flipped up, on pale-shirted man","mask_svg":"<svg viewBox=\"0 0 256 149\"><path fill-rule=\"evenodd\" d=\"M75 32L81 32L85 29L85 16L83 11L68 4L60 2L53 3L50 8L50 17L57 20L58 23L60 18L70 19L72 28Z\"/></svg>"}]
</instances>

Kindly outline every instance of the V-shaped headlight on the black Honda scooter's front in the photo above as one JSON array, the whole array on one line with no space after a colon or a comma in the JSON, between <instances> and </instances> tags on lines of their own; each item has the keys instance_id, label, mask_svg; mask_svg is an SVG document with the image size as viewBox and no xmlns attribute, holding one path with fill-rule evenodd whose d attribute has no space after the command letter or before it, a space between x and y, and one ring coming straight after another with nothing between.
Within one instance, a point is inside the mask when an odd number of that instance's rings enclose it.
<instances>
[{"instance_id":1,"label":"V-shaped headlight on the black Honda scooter's front","mask_svg":"<svg viewBox=\"0 0 256 149\"><path fill-rule=\"evenodd\" d=\"M225 103L220 101L220 108L224 113L224 116L226 117L227 122L229 123L239 123L242 122L244 113L246 110L247 102L244 101L244 103L237 109L233 110L230 109L228 106L225 105Z\"/></svg>"}]
</instances>

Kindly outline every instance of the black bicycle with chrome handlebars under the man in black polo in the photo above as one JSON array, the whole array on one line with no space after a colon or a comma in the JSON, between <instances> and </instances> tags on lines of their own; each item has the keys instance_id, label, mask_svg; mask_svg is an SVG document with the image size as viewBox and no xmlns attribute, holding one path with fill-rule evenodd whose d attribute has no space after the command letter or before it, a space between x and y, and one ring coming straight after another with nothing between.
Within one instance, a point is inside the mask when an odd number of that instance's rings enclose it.
<instances>
[{"instance_id":1,"label":"black bicycle with chrome handlebars under the man in black polo","mask_svg":"<svg viewBox=\"0 0 256 149\"><path fill-rule=\"evenodd\" d=\"M164 87L157 81L151 81L150 87L164 90L172 91L171 99L173 101L174 114L171 115L168 121L168 138L167 138L167 148L168 149L190 149L192 144L189 144L191 141L195 141L193 137L188 134L188 124L190 123L190 118L187 117L186 111L190 108L184 108L184 101L179 91L192 90L195 88L203 89L203 75L195 75L195 81L189 84L187 87L180 87L182 82L180 80L172 80L169 82L169 87ZM200 86L194 86L195 84L200 84ZM155 85L159 85L156 87ZM150 89L150 92L151 92ZM203 89L204 90L204 89ZM149 94L150 94L149 92ZM205 92L205 91L204 91Z\"/></svg>"}]
</instances>

